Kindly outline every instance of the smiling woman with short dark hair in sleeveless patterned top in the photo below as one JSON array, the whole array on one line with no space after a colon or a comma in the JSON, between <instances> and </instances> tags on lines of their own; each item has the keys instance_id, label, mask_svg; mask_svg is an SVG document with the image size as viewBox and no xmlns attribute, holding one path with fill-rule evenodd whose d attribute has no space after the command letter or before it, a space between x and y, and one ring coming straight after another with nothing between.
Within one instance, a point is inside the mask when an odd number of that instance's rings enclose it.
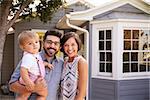
<instances>
[{"instance_id":1,"label":"smiling woman with short dark hair in sleeveless patterned top","mask_svg":"<svg viewBox=\"0 0 150 100\"><path fill-rule=\"evenodd\" d=\"M61 99L83 100L88 79L87 61L78 54L81 40L74 32L66 33L61 40L61 51L67 56L61 77Z\"/></svg>"}]
</instances>

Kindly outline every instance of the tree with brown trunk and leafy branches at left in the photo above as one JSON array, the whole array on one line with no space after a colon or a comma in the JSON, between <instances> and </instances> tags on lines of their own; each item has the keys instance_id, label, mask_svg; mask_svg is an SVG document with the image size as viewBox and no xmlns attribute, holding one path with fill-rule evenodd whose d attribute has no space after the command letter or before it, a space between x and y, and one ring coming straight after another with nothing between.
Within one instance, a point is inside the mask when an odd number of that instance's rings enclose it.
<instances>
[{"instance_id":1,"label":"tree with brown trunk and leafy branches at left","mask_svg":"<svg viewBox=\"0 0 150 100\"><path fill-rule=\"evenodd\" d=\"M35 1L39 4L30 7ZM9 28L17 19L39 18L43 22L51 20L52 14L62 6L62 0L0 0L0 83L3 49ZM12 19L8 20L8 17Z\"/></svg>"}]
</instances>

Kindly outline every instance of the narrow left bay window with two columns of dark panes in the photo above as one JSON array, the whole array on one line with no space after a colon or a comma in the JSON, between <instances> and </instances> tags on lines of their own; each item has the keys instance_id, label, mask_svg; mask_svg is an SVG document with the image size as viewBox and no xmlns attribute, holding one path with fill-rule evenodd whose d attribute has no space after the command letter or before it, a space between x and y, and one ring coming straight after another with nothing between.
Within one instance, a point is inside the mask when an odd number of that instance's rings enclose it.
<instances>
[{"instance_id":1,"label":"narrow left bay window with two columns of dark panes","mask_svg":"<svg viewBox=\"0 0 150 100\"><path fill-rule=\"evenodd\" d=\"M99 31L99 72L112 72L112 31Z\"/></svg>"}]
</instances>

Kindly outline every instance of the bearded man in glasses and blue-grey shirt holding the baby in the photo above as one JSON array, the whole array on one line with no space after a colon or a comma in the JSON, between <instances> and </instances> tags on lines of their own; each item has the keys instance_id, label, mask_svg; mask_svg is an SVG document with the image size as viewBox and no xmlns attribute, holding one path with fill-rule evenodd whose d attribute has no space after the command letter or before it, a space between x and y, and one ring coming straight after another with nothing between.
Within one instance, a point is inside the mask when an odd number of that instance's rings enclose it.
<instances>
[{"instance_id":1,"label":"bearded man in glasses and blue-grey shirt holding the baby","mask_svg":"<svg viewBox=\"0 0 150 100\"><path fill-rule=\"evenodd\" d=\"M51 63L54 68L46 68L45 80L48 88L47 100L57 100L60 77L63 67L63 60L56 56L56 53L60 49L61 33L56 31L47 31L43 37L43 50L40 55L44 61ZM10 90L15 93L27 92L25 86L19 84L18 79L20 77L20 63L16 67L14 73L11 76L9 87ZM33 92L40 91L43 86L46 85L45 80L39 77L35 82ZM31 97L32 98L32 97Z\"/></svg>"}]
</instances>

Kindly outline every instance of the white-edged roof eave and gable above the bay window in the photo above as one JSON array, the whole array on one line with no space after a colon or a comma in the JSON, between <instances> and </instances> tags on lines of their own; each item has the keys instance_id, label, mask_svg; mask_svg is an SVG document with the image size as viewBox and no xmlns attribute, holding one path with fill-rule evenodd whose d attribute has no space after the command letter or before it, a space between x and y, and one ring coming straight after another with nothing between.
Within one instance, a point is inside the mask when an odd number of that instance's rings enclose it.
<instances>
[{"instance_id":1,"label":"white-edged roof eave and gable above the bay window","mask_svg":"<svg viewBox=\"0 0 150 100\"><path fill-rule=\"evenodd\" d=\"M109 2L107 4L104 4L104 5L92 8L92 9L88 9L85 11L71 12L69 15L66 15L62 19L60 19L56 27L59 29L69 28L65 22L67 17L69 17L71 24L80 26L85 21L93 20L93 17L98 14L105 13L107 11L118 8L125 4L130 4L142 10L143 12L150 14L150 5L144 2L143 0L113 0L112 2Z\"/></svg>"}]
</instances>

